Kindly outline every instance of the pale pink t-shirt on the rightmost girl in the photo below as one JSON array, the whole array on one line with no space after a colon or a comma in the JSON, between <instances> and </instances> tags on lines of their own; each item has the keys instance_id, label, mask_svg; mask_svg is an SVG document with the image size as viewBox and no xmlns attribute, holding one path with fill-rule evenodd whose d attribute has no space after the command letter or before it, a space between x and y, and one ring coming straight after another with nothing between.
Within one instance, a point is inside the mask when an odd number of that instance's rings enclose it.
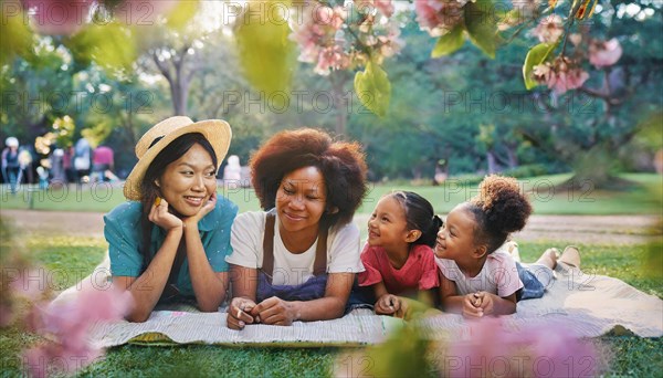
<instances>
[{"instance_id":1,"label":"pale pink t-shirt on the rightmost girl","mask_svg":"<svg viewBox=\"0 0 663 378\"><path fill-rule=\"evenodd\" d=\"M456 286L457 295L487 292L497 296L509 296L523 287L516 262L505 251L488 254L481 272L474 277L465 275L455 261L435 258L442 274Z\"/></svg>"}]
</instances>

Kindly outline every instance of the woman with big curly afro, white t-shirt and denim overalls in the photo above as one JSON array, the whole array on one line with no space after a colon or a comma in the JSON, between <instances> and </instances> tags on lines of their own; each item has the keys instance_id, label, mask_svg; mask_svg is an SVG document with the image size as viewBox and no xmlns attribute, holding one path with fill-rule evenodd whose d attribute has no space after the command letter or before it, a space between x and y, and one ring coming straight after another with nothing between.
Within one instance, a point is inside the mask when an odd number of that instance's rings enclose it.
<instances>
[{"instance_id":1,"label":"woman with big curly afro, white t-shirt and denim overalls","mask_svg":"<svg viewBox=\"0 0 663 378\"><path fill-rule=\"evenodd\" d=\"M351 223L367 189L359 146L309 128L282 132L253 155L251 174L265 211L232 227L228 326L343 316L364 271Z\"/></svg>"}]
</instances>

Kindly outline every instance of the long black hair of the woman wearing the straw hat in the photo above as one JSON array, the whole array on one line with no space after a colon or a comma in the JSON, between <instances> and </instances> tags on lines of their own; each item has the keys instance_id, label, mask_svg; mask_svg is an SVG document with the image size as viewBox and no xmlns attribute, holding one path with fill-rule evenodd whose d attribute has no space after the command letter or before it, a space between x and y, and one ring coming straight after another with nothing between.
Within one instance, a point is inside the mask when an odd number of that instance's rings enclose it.
<instances>
[{"instance_id":1,"label":"long black hair of the woman wearing the straw hat","mask_svg":"<svg viewBox=\"0 0 663 378\"><path fill-rule=\"evenodd\" d=\"M148 219L149 212L157 197L160 197L159 187L156 181L164 175L166 168L175 160L181 158L185 154L193 147L193 145L200 145L206 151L210 154L214 167L217 167L217 154L214 148L209 140L200 133L185 134L177 139L172 140L166 146L147 167L145 177L140 182L140 203L143 203L143 213L140 217L140 230L143 231L143 242L140 243L140 253L143 254L143 269L147 269L151 262L152 254L156 251L151 251L151 231L154 223ZM180 249L185 248L185 239L182 238L178 248L178 253L182 252Z\"/></svg>"}]
</instances>

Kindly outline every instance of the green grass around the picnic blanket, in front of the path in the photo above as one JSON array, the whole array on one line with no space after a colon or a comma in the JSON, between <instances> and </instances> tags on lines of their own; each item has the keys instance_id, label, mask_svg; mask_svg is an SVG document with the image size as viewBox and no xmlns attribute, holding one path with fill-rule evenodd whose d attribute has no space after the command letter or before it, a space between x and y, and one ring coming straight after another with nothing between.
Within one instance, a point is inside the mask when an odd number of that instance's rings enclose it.
<instances>
[{"instance_id":1,"label":"green grass around the picnic blanket, in front of the path","mask_svg":"<svg viewBox=\"0 0 663 378\"><path fill-rule=\"evenodd\" d=\"M533 261L549 246L564 248L564 241L550 243L522 242L524 261ZM1 245L0 245L1 246ZM4 244L7 248L7 244ZM24 242L25 252L53 274L56 288L75 283L101 261L106 249L103 239L34 235ZM661 279L642 273L645 245L579 245L583 270L621 279L644 292L663 297ZM41 340L15 326L0 329L2 376L18 377L19 354ZM591 340L609 361L606 377L655 377L663 371L663 338L609 335ZM191 345L180 347L120 346L80 372L81 376L241 376L241 377L320 377L329 376L334 359L343 350L336 348L280 349L228 348Z\"/></svg>"}]
</instances>

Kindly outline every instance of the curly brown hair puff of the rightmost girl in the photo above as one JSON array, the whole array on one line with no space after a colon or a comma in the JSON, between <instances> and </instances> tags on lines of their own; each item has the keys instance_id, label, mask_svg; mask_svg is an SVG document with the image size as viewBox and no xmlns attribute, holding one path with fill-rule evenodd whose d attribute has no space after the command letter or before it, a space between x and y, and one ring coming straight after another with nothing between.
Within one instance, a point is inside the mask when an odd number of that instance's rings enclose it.
<instances>
[{"instance_id":1,"label":"curly brown hair puff of the rightmost girl","mask_svg":"<svg viewBox=\"0 0 663 378\"><path fill-rule=\"evenodd\" d=\"M486 176L478 189L478 195L465 202L464 208L476 221L474 242L486 244L488 253L493 253L509 233L523 230L532 214L532 204L512 177Z\"/></svg>"}]
</instances>

